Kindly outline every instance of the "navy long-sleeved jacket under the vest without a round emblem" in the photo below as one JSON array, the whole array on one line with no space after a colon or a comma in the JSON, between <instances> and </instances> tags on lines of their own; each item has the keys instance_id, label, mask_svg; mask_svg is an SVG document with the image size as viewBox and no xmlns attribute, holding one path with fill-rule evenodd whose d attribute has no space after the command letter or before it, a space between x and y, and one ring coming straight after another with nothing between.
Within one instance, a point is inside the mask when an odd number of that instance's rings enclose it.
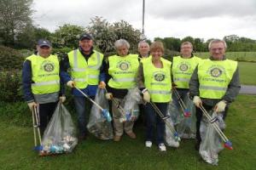
<instances>
[{"instance_id":1,"label":"navy long-sleeved jacket under the vest without a round emblem","mask_svg":"<svg viewBox=\"0 0 256 170\"><path fill-rule=\"evenodd\" d=\"M86 61L88 61L90 56L95 53L93 48L90 49L90 54L84 54L82 48L80 48L80 47L79 47L79 51L81 54L83 54L84 59ZM104 59L103 59L103 61L104 61ZM102 65L100 67L100 76L99 76L100 82L105 82L105 80L106 80L106 73L104 72L105 71L104 68L106 67L106 64L103 61L102 61ZM67 73L68 69L70 68L69 59L68 59L67 55L61 57L60 68L61 68L61 78L63 79L63 82L66 84L68 81L72 80L70 75ZM83 88L81 90L84 92L84 94L87 94L89 96L95 96L97 88L98 88L98 85L90 85L89 84L86 88ZM77 90L75 88L72 89L72 93L74 96L83 96L83 94L81 94L79 92L79 90Z\"/></svg>"}]
</instances>

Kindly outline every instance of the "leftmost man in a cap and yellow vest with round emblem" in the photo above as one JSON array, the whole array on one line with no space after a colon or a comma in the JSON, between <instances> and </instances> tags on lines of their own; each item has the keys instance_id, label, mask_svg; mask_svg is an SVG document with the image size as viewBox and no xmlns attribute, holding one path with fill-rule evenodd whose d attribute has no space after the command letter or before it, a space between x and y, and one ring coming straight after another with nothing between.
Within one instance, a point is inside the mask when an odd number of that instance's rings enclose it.
<instances>
[{"instance_id":1,"label":"leftmost man in a cap and yellow vest with round emblem","mask_svg":"<svg viewBox=\"0 0 256 170\"><path fill-rule=\"evenodd\" d=\"M58 101L66 99L61 96L59 61L57 56L51 54L51 49L48 40L38 40L37 54L27 57L22 69L24 98L31 111L33 107L38 107L42 135Z\"/></svg>"}]
</instances>

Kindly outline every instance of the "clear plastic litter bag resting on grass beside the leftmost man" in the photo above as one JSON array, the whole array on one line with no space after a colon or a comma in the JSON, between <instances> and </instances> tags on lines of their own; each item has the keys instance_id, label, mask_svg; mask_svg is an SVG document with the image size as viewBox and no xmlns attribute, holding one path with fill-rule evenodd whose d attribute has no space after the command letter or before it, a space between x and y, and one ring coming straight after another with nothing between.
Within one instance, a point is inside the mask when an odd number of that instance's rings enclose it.
<instances>
[{"instance_id":1,"label":"clear plastic litter bag resting on grass beside the leftmost man","mask_svg":"<svg viewBox=\"0 0 256 170\"><path fill-rule=\"evenodd\" d=\"M40 151L40 155L71 152L77 144L76 127L73 124L72 116L59 102L44 131L43 149Z\"/></svg>"}]
</instances>

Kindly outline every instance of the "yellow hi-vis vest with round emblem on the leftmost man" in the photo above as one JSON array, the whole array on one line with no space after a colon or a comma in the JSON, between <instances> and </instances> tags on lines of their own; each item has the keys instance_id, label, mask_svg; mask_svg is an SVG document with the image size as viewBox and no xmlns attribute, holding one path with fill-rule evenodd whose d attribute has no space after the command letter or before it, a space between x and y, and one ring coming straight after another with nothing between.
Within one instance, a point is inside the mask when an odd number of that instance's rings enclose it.
<instances>
[{"instance_id":1,"label":"yellow hi-vis vest with round emblem on the leftmost man","mask_svg":"<svg viewBox=\"0 0 256 170\"><path fill-rule=\"evenodd\" d=\"M26 58L32 66L32 94L51 94L60 91L59 60L55 55L44 58L31 55Z\"/></svg>"}]
</instances>

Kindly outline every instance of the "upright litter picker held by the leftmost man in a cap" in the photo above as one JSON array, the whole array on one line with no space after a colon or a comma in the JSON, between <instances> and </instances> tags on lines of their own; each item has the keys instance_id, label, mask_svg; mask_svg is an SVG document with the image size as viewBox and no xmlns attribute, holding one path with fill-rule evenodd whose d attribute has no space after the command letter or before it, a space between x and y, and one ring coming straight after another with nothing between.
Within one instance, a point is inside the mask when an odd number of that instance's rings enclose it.
<instances>
[{"instance_id":1,"label":"upright litter picker held by the leftmost man in a cap","mask_svg":"<svg viewBox=\"0 0 256 170\"><path fill-rule=\"evenodd\" d=\"M39 113L38 113L38 106L33 106L32 108L32 122L33 122L33 133L34 133L34 150L42 150L42 139L41 139L41 133L40 133L40 119L39 119ZM39 142L39 145L38 145Z\"/></svg>"}]
</instances>

